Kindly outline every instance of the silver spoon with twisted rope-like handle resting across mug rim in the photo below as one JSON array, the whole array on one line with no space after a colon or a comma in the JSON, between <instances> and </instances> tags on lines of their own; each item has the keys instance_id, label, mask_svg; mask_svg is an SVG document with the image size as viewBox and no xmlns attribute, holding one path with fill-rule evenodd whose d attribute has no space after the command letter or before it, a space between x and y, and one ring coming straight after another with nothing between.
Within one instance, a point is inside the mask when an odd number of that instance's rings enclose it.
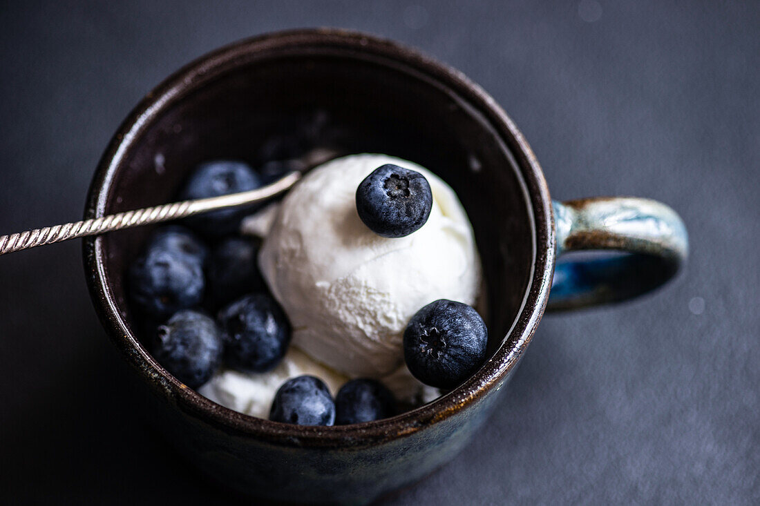
<instances>
[{"instance_id":1,"label":"silver spoon with twisted rope-like handle resting across mug rim","mask_svg":"<svg viewBox=\"0 0 760 506\"><path fill-rule=\"evenodd\" d=\"M271 185L262 186L251 191L220 195L219 197L199 198L195 201L182 201L175 202L174 204L145 207L144 209L109 214L100 218L65 223L64 225L46 226L43 229L27 230L27 232L15 233L10 236L0 236L0 255L54 242L68 241L68 239L76 239L78 237L97 236L103 232L177 220L210 210L255 204L282 193L296 184L299 179L301 179L300 172L290 172L287 176L277 179Z\"/></svg>"}]
</instances>

